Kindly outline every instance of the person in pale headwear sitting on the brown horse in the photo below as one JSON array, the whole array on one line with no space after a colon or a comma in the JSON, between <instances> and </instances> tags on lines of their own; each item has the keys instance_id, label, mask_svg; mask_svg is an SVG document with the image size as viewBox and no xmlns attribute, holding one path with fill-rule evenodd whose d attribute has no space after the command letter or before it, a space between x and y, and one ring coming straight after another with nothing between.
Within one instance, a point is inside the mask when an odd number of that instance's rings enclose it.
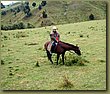
<instances>
[{"instance_id":1,"label":"person in pale headwear sitting on the brown horse","mask_svg":"<svg viewBox=\"0 0 110 94\"><path fill-rule=\"evenodd\" d=\"M53 27L52 27L52 31L51 31L51 33L50 33L51 42L50 42L49 45L48 45L48 51L50 52L50 54L52 54L52 53L51 53L52 45L53 45L54 43L56 43L56 45L57 45L57 43L59 42L59 38L60 38L60 35L59 35L59 33L58 33L58 29L57 29L56 26L53 26Z\"/></svg>"}]
</instances>

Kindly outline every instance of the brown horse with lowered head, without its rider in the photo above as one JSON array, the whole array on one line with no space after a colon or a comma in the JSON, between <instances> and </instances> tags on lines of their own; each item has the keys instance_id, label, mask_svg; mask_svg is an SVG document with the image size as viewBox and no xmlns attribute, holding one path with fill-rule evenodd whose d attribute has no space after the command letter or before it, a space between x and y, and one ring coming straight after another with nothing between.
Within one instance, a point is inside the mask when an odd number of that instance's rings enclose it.
<instances>
[{"instance_id":1,"label":"brown horse with lowered head, without its rider","mask_svg":"<svg viewBox=\"0 0 110 94\"><path fill-rule=\"evenodd\" d=\"M48 47L49 43L50 43L50 41L46 42L44 44L44 48L45 48L45 50L47 52L48 59L53 64L53 61L52 61L52 58L51 58L52 55L47 50L47 47ZM57 54L57 65L58 65L58 60L59 60L60 55L62 55L62 61L63 61L63 65L64 65L65 52L66 51L70 51L70 50L73 50L77 55L81 55L81 51L80 51L78 46L74 46L72 44L65 43L65 42L62 42L62 41L58 42L57 46L54 48L54 50L52 50L52 53L56 53Z\"/></svg>"}]
</instances>

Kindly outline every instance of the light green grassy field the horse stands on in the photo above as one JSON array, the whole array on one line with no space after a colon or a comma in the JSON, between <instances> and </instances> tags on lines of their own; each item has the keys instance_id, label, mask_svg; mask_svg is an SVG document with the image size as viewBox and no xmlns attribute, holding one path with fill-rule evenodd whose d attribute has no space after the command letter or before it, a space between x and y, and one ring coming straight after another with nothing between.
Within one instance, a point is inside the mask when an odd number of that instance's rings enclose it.
<instances>
[{"instance_id":1,"label":"light green grassy field the horse stands on","mask_svg":"<svg viewBox=\"0 0 110 94\"><path fill-rule=\"evenodd\" d=\"M106 90L106 20L57 25L61 40L78 44L83 66L52 65L43 49L51 26L1 31L2 90ZM39 64L39 67L36 66Z\"/></svg>"}]
</instances>

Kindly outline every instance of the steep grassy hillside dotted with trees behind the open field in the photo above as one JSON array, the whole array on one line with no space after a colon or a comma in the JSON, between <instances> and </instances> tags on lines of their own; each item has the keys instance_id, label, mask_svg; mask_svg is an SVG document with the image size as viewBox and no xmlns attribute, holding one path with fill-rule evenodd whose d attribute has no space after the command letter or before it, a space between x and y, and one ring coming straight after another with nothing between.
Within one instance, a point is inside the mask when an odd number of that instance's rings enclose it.
<instances>
[{"instance_id":1,"label":"steep grassy hillside dotted with trees behind the open field","mask_svg":"<svg viewBox=\"0 0 110 94\"><path fill-rule=\"evenodd\" d=\"M23 21L25 24L31 23L35 27L39 27L42 21L46 23L45 25L88 21L91 13L94 14L96 20L106 18L106 3L103 1L47 1L47 5L40 11L38 10L38 5L41 2L36 1L36 7L32 7L32 3L33 1L30 2L31 17L25 18L25 14L22 11L17 13L15 17L14 13L8 11L7 15L1 16L1 23L7 25ZM12 6L12 8L16 6L20 6L19 3ZM40 19L39 15L45 9L48 18Z\"/></svg>"}]
</instances>

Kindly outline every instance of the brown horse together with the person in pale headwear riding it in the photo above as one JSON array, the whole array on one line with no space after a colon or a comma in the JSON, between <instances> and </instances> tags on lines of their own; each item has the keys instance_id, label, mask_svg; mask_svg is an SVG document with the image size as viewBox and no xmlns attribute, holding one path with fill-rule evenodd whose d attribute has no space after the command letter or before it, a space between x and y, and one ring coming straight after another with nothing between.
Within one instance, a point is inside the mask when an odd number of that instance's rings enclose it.
<instances>
[{"instance_id":1,"label":"brown horse together with the person in pale headwear riding it","mask_svg":"<svg viewBox=\"0 0 110 94\"><path fill-rule=\"evenodd\" d=\"M47 41L44 44L44 48L46 50L47 57L52 64L53 64L53 61L51 58L52 53L57 54L57 65L58 65L58 60L59 60L60 55L62 55L62 62L64 65L64 56L65 56L66 51L74 51L77 55L79 55L79 56L81 55L81 51L80 51L80 48L78 47L78 45L75 46L73 44L66 43L66 42L59 40L60 35L58 33L56 26L52 27L52 32L50 33L50 38L51 38L51 41Z\"/></svg>"}]
</instances>

